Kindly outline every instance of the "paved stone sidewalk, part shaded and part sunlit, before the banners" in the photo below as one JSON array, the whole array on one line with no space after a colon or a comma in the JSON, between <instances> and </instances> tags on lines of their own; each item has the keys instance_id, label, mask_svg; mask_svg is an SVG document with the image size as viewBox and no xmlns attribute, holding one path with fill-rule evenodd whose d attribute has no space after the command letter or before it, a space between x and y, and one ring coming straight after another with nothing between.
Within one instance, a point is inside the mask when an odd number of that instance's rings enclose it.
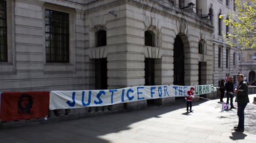
<instances>
[{"instance_id":1,"label":"paved stone sidewalk, part shaded and part sunlit, before the banners","mask_svg":"<svg viewBox=\"0 0 256 143\"><path fill-rule=\"evenodd\" d=\"M79 120L0 130L0 142L256 142L256 105L245 108L245 131L235 132L237 109L221 111L219 99ZM226 99L224 99L226 101ZM237 103L234 103L237 107Z\"/></svg>"}]
</instances>

